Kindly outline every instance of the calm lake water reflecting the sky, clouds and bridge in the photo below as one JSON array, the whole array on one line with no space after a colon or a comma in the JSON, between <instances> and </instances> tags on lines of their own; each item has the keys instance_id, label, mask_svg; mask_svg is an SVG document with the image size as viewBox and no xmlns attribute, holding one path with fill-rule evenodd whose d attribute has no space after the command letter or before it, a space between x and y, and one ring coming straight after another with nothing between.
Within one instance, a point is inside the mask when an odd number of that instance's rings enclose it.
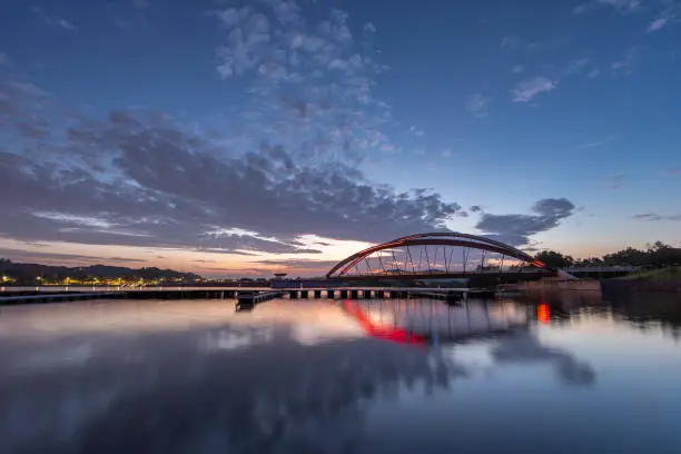
<instances>
[{"instance_id":1,"label":"calm lake water reflecting the sky, clouds and bridge","mask_svg":"<svg viewBox=\"0 0 681 454\"><path fill-rule=\"evenodd\" d=\"M681 297L0 307L0 453L681 453Z\"/></svg>"}]
</instances>

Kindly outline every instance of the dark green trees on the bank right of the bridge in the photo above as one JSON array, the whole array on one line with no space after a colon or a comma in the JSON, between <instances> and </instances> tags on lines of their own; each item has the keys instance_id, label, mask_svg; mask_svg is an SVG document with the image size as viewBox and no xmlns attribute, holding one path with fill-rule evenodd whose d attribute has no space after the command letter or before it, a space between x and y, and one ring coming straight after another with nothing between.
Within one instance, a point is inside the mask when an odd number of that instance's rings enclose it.
<instances>
[{"instance_id":1,"label":"dark green trees on the bank right of the bridge","mask_svg":"<svg viewBox=\"0 0 681 454\"><path fill-rule=\"evenodd\" d=\"M602 257L574 259L555 250L542 250L534 256L552 268L594 267L594 266L636 266L662 268L681 266L681 247L673 247L662 241L648 245L645 249L628 247Z\"/></svg>"}]
</instances>

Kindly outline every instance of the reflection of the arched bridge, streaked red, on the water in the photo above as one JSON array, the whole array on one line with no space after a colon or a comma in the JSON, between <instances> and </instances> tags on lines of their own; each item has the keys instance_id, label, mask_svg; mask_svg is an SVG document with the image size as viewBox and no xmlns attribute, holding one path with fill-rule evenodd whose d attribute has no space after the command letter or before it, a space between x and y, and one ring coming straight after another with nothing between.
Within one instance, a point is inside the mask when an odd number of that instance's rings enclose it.
<instances>
[{"instance_id":1,"label":"reflection of the arched bridge, streaked red, on the water","mask_svg":"<svg viewBox=\"0 0 681 454\"><path fill-rule=\"evenodd\" d=\"M526 307L510 300L445 305L432 299L348 299L342 306L372 336L416 344L491 335L530 320Z\"/></svg>"}]
</instances>

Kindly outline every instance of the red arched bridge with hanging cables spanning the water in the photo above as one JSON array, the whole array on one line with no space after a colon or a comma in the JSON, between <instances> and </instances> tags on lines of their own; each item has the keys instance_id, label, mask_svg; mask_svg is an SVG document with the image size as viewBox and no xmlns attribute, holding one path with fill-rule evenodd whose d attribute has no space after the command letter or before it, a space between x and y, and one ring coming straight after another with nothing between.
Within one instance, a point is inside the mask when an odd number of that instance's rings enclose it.
<instances>
[{"instance_id":1,"label":"red arched bridge with hanging cables spanning the water","mask_svg":"<svg viewBox=\"0 0 681 454\"><path fill-rule=\"evenodd\" d=\"M543 277L573 278L504 243L456 231L404 236L340 260L327 279L468 279L486 286Z\"/></svg>"}]
</instances>

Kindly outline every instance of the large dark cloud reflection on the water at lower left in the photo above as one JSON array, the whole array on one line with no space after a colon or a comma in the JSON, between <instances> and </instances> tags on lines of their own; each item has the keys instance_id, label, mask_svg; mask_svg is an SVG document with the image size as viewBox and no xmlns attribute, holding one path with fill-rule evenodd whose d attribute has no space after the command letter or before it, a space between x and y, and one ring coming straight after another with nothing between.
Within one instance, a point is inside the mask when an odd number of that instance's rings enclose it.
<instances>
[{"instance_id":1,"label":"large dark cloud reflection on the water at lower left","mask_svg":"<svg viewBox=\"0 0 681 454\"><path fill-rule=\"evenodd\" d=\"M197 318L167 317L167 305L152 303L142 317L120 303L70 328L82 335L3 348L3 452L359 452L375 405L396 405L401 389L446 396L467 376L440 351L364 336L334 305L272 302L244 322L215 304ZM125 330L110 329L121 317ZM154 329L161 317L178 328ZM69 417L17 431L19 412Z\"/></svg>"}]
</instances>

